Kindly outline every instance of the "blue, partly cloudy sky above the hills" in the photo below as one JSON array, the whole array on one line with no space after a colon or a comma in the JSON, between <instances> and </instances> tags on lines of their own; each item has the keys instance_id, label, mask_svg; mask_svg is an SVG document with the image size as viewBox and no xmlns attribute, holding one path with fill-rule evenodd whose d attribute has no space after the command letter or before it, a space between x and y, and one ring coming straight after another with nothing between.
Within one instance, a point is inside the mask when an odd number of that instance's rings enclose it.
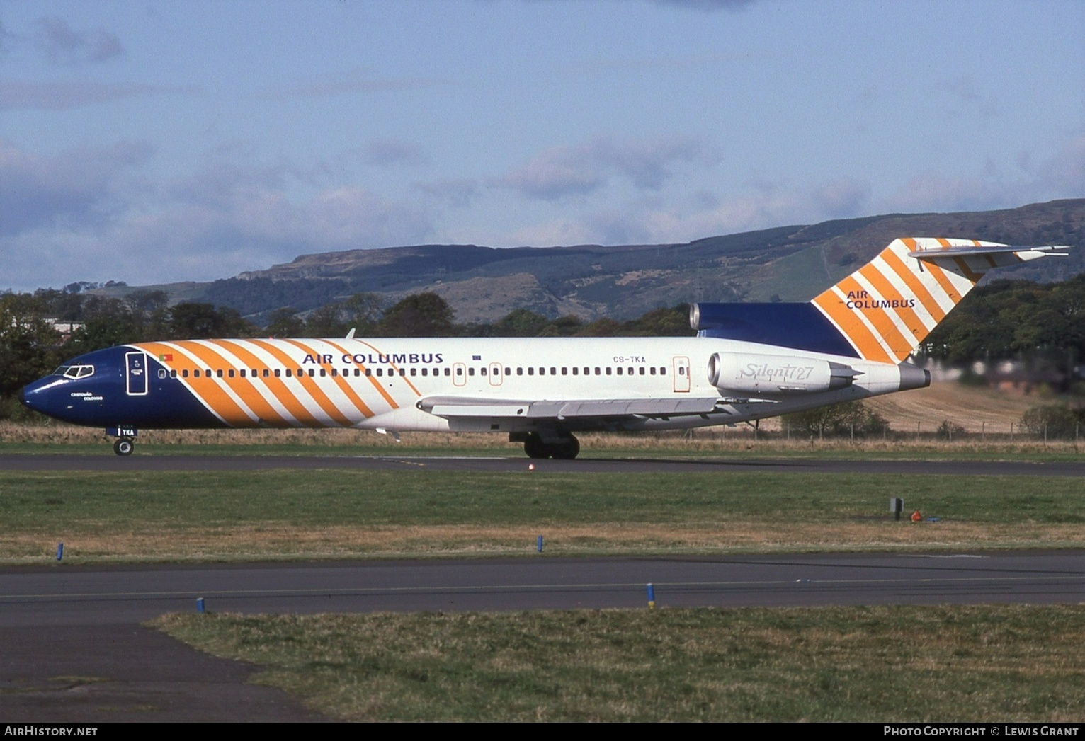
<instances>
[{"instance_id":1,"label":"blue, partly cloudy sky above the hills","mask_svg":"<svg viewBox=\"0 0 1085 741\"><path fill-rule=\"evenodd\" d=\"M1083 196L1080 0L0 0L0 290Z\"/></svg>"}]
</instances>

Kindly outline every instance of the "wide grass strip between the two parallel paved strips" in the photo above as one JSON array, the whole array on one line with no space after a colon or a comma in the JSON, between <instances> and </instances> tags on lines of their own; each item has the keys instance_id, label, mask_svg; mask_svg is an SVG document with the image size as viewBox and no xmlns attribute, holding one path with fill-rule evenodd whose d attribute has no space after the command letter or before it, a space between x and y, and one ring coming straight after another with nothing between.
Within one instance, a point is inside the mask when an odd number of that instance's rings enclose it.
<instances>
[{"instance_id":1,"label":"wide grass strip between the two parallel paved strips","mask_svg":"<svg viewBox=\"0 0 1085 741\"><path fill-rule=\"evenodd\" d=\"M0 560L1085 546L1085 481L709 471L9 472ZM895 523L901 496L937 523Z\"/></svg>"}]
</instances>

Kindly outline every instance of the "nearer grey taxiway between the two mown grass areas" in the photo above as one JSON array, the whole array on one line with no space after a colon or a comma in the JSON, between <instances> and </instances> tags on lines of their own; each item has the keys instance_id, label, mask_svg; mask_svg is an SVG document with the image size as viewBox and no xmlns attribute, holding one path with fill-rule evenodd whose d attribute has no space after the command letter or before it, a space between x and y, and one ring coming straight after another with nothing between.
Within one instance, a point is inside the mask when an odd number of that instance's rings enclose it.
<instances>
[{"instance_id":1,"label":"nearer grey taxiway between the two mown grass areas","mask_svg":"<svg viewBox=\"0 0 1085 741\"><path fill-rule=\"evenodd\" d=\"M0 571L0 627L165 612L372 612L1078 602L1085 552L352 561Z\"/></svg>"}]
</instances>

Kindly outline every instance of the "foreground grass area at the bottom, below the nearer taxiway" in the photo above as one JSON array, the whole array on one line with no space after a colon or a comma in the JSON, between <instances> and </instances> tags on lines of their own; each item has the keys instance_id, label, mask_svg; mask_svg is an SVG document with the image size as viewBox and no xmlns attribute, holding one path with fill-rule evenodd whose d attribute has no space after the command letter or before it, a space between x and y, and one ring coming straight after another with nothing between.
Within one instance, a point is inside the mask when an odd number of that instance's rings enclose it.
<instances>
[{"instance_id":1,"label":"foreground grass area at the bottom, below the nearer taxiway","mask_svg":"<svg viewBox=\"0 0 1085 741\"><path fill-rule=\"evenodd\" d=\"M1063 720L1085 606L167 615L354 720Z\"/></svg>"}]
</instances>

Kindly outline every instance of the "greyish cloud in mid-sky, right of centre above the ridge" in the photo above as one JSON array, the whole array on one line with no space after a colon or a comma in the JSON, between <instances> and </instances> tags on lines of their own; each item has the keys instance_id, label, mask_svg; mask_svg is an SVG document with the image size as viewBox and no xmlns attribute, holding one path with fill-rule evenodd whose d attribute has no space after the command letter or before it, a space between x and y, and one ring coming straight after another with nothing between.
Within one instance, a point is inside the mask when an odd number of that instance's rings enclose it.
<instances>
[{"instance_id":1,"label":"greyish cloud in mid-sky, right of centre above the ridge","mask_svg":"<svg viewBox=\"0 0 1085 741\"><path fill-rule=\"evenodd\" d=\"M585 195L613 177L643 190L658 190L675 163L713 163L716 157L691 137L656 137L615 141L597 137L572 146L554 146L497 180L528 199L557 201Z\"/></svg>"}]
</instances>

